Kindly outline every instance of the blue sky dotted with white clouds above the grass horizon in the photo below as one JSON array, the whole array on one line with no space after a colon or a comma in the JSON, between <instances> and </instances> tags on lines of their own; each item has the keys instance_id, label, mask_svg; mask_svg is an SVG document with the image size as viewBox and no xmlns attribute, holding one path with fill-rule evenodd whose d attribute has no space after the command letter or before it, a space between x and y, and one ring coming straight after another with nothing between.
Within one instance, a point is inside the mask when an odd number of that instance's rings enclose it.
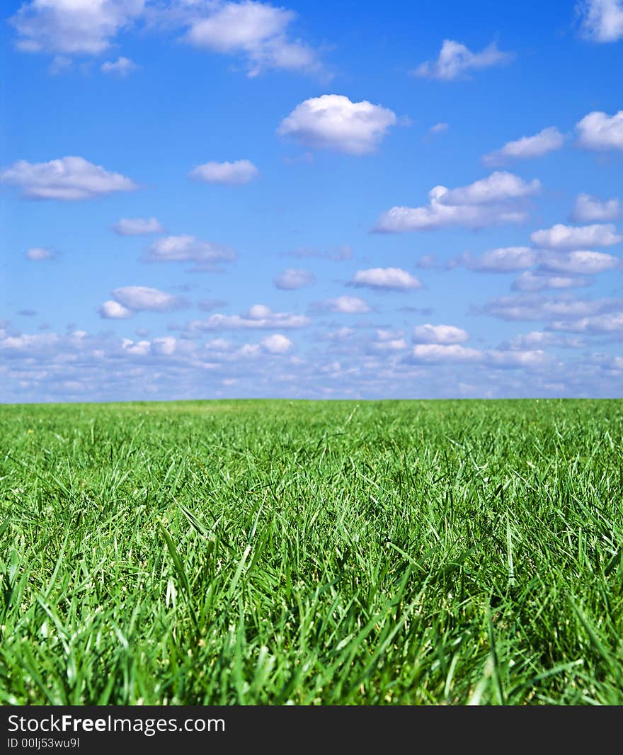
<instances>
[{"instance_id":1,"label":"blue sky dotted with white clouds above the grass horizon","mask_svg":"<svg viewBox=\"0 0 623 755\"><path fill-rule=\"evenodd\" d=\"M623 4L4 14L0 400L623 395Z\"/></svg>"}]
</instances>

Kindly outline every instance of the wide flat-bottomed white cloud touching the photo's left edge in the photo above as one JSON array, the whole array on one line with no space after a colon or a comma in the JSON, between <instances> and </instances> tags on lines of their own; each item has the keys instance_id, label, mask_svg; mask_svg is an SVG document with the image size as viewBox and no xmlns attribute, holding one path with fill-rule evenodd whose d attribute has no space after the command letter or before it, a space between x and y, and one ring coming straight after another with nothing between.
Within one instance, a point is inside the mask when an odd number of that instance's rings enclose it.
<instances>
[{"instance_id":1,"label":"wide flat-bottomed white cloud touching the photo's left edge","mask_svg":"<svg viewBox=\"0 0 623 755\"><path fill-rule=\"evenodd\" d=\"M72 201L137 189L133 180L106 171L82 157L36 163L18 160L0 172L0 180L20 186L23 196L30 199Z\"/></svg>"}]
</instances>

